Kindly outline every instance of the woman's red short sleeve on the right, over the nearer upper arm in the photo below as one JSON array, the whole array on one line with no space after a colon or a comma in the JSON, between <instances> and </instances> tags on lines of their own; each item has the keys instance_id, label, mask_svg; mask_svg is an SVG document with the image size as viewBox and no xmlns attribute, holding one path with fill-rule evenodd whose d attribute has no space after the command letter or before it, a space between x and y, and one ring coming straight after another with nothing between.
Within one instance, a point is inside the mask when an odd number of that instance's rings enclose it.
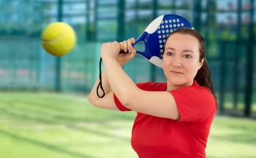
<instances>
[{"instance_id":1,"label":"woman's red short sleeve on the right, over the nearer upper arm","mask_svg":"<svg viewBox=\"0 0 256 158\"><path fill-rule=\"evenodd\" d=\"M202 123L215 114L215 98L206 87L187 86L169 92L178 107L178 121Z\"/></svg>"}]
</instances>

